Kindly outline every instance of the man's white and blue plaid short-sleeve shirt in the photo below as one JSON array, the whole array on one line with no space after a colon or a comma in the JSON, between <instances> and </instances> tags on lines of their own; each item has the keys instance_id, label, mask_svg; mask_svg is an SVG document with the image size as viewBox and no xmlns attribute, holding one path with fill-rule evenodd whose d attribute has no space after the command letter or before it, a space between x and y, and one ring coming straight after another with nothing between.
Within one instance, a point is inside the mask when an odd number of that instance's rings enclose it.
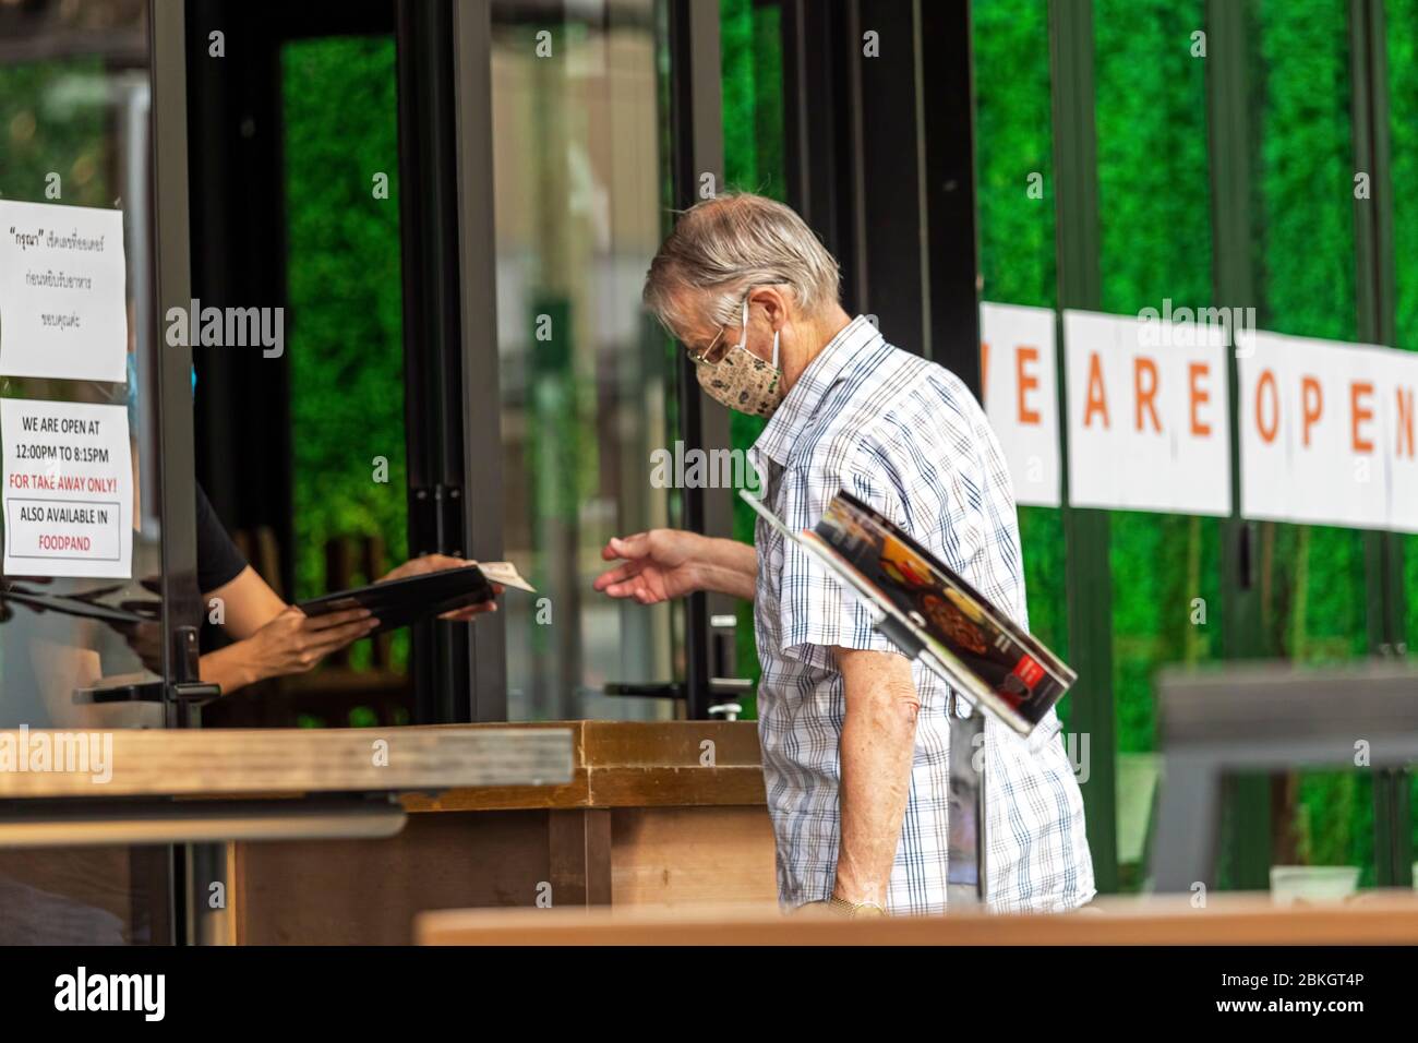
<instances>
[{"instance_id":1,"label":"man's white and blue plaid short-sleeve shirt","mask_svg":"<svg viewBox=\"0 0 1418 1043\"><path fill-rule=\"evenodd\" d=\"M959 377L892 348L864 316L813 359L750 461L767 482L764 501L790 528L817 525L845 488L1028 626L1014 490L984 412ZM845 698L832 646L896 647L815 559L763 521L754 543L759 738L778 898L795 907L831 895L837 876ZM920 664L912 674L920 712L888 910L939 912L946 904L950 690ZM984 751L991 907L1082 905L1095 894L1093 866L1058 717L1049 711L1028 739L987 724Z\"/></svg>"}]
</instances>

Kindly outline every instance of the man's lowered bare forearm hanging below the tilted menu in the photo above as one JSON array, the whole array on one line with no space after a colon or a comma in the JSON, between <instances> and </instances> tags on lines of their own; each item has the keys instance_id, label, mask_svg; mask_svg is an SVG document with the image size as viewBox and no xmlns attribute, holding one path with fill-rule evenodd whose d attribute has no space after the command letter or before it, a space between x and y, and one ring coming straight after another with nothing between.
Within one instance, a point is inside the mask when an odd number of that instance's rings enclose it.
<instances>
[{"instance_id":1,"label":"man's lowered bare forearm hanging below the tilted menu","mask_svg":"<svg viewBox=\"0 0 1418 1043\"><path fill-rule=\"evenodd\" d=\"M920 697L910 661L892 651L834 649L847 688L838 898L885 908L910 795Z\"/></svg>"}]
</instances>

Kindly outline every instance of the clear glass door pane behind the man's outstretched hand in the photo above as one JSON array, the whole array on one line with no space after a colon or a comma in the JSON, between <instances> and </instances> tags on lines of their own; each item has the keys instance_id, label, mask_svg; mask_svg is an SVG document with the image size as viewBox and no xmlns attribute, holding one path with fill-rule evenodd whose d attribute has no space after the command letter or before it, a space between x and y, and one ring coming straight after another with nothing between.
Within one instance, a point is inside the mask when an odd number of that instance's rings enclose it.
<instances>
[{"instance_id":1,"label":"clear glass door pane behind the man's outstretched hand","mask_svg":"<svg viewBox=\"0 0 1418 1043\"><path fill-rule=\"evenodd\" d=\"M671 524L678 346L640 302L666 184L664 4L495 0L491 108L510 719L668 717L672 606L591 592L613 535Z\"/></svg>"}]
</instances>

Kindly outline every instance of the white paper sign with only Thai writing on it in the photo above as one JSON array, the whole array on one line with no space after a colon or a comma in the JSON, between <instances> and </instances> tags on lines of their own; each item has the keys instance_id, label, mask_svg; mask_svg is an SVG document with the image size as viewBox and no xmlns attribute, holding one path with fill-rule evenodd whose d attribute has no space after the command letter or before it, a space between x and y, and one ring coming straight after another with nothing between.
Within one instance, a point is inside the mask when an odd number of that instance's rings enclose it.
<instances>
[{"instance_id":1,"label":"white paper sign with only Thai writing on it","mask_svg":"<svg viewBox=\"0 0 1418 1043\"><path fill-rule=\"evenodd\" d=\"M0 373L128 377L123 213L0 200Z\"/></svg>"}]
</instances>

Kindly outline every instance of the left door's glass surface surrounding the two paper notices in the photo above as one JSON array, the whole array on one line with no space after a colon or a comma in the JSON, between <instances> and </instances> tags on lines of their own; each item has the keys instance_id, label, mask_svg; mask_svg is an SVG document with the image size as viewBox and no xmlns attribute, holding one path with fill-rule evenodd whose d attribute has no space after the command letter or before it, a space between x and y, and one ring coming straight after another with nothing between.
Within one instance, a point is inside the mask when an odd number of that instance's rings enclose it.
<instances>
[{"instance_id":1,"label":"left door's glass surface surrounding the two paper notices","mask_svg":"<svg viewBox=\"0 0 1418 1043\"><path fill-rule=\"evenodd\" d=\"M0 4L0 192L122 210L129 297L128 383L0 377L0 396L126 406L135 498L132 579L0 579L0 728L163 724L160 704L84 701L160 668L149 109L143 0ZM166 941L167 854L0 850L0 944Z\"/></svg>"}]
</instances>

